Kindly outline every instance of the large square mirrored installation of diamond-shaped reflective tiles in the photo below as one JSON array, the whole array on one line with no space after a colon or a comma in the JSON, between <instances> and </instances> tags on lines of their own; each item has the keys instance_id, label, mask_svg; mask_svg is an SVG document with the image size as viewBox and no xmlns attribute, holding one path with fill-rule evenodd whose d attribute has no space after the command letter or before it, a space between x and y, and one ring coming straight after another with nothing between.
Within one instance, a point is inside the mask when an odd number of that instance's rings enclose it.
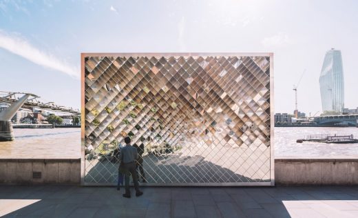
<instances>
[{"instance_id":1,"label":"large square mirrored installation of diamond-shaped reflective tiles","mask_svg":"<svg viewBox=\"0 0 358 218\"><path fill-rule=\"evenodd\" d=\"M255 55L255 54L254 54ZM83 184L272 185L270 54L83 54Z\"/></svg>"}]
</instances>

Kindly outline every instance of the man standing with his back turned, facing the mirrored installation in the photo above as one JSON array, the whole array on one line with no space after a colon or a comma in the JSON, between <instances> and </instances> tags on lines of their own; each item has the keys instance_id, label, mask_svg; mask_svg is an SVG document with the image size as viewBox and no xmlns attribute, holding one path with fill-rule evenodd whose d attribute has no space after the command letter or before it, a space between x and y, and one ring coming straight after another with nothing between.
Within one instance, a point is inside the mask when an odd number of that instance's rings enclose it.
<instances>
[{"instance_id":1,"label":"man standing with his back turned, facing the mirrored installation","mask_svg":"<svg viewBox=\"0 0 358 218\"><path fill-rule=\"evenodd\" d=\"M136 159L138 158L137 149L130 145L131 139L125 137L126 146L120 149L120 165L125 169L125 194L123 197L131 197L131 192L129 190L129 173L134 181L134 188L136 188L136 196L143 195L143 192L139 190L138 178L136 173Z\"/></svg>"}]
</instances>

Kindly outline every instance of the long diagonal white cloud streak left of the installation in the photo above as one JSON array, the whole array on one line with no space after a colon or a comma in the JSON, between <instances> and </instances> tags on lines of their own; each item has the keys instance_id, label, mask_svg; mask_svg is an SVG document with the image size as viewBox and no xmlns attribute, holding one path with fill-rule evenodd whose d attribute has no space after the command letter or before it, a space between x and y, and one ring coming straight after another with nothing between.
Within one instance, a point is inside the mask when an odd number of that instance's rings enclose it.
<instances>
[{"instance_id":1,"label":"long diagonal white cloud streak left of the installation","mask_svg":"<svg viewBox=\"0 0 358 218\"><path fill-rule=\"evenodd\" d=\"M58 70L76 79L80 78L79 67L71 66L65 61L54 57L53 54L35 48L27 40L19 37L19 35L8 34L0 30L0 48L28 59L39 66Z\"/></svg>"}]
</instances>

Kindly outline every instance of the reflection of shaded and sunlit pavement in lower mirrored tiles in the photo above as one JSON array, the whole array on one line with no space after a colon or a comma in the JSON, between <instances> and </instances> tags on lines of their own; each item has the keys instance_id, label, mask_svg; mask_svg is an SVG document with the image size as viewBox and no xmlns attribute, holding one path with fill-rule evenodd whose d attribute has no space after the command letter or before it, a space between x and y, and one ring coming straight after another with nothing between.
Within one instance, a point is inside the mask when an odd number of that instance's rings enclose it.
<instances>
[{"instance_id":1,"label":"reflection of shaded and sunlit pavement in lower mirrored tiles","mask_svg":"<svg viewBox=\"0 0 358 218\"><path fill-rule=\"evenodd\" d=\"M161 156L145 155L143 167L148 183L235 183L270 179L269 148L260 153L225 147L195 149ZM88 183L117 181L118 164L110 161L93 160L91 164L86 161L86 170Z\"/></svg>"}]
</instances>

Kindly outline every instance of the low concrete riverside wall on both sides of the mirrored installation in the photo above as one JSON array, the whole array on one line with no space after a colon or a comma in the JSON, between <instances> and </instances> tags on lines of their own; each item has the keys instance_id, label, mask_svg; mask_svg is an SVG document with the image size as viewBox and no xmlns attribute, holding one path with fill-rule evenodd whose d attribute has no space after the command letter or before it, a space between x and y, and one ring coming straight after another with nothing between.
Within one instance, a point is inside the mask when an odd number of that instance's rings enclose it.
<instances>
[{"instance_id":1,"label":"low concrete riverside wall on both sides of the mirrored installation","mask_svg":"<svg viewBox=\"0 0 358 218\"><path fill-rule=\"evenodd\" d=\"M0 159L0 184L79 185L81 159ZM275 185L358 185L358 158L276 158Z\"/></svg>"}]
</instances>

